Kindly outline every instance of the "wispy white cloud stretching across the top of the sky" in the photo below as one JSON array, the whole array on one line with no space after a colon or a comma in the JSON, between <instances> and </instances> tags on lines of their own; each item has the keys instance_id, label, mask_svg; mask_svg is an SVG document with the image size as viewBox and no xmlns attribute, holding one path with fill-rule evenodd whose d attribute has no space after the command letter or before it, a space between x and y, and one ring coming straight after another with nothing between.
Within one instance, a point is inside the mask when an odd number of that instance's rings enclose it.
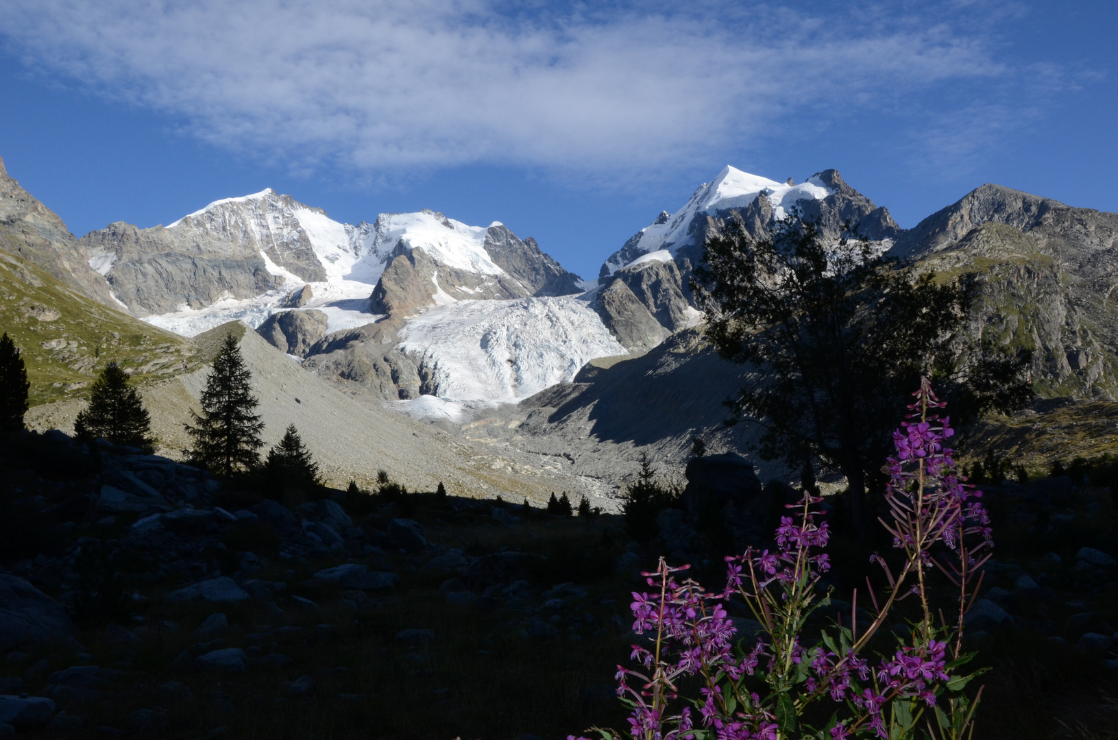
<instances>
[{"instance_id":1,"label":"wispy white cloud stretching across the top of the sky","mask_svg":"<svg viewBox=\"0 0 1118 740\"><path fill-rule=\"evenodd\" d=\"M604 6L603 6L604 7ZM676 6L679 8L680 6ZM923 17L485 0L7 0L39 66L293 168L672 170L850 101L1007 74ZM883 29L889 30L866 30Z\"/></svg>"}]
</instances>

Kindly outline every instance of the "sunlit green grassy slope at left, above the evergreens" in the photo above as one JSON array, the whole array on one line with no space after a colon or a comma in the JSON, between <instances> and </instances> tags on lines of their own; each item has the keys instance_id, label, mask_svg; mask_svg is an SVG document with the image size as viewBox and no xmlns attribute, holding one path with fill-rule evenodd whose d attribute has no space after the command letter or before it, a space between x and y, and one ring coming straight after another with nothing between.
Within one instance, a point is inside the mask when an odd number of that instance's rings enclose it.
<instances>
[{"instance_id":1,"label":"sunlit green grassy slope at left, above the evergreens","mask_svg":"<svg viewBox=\"0 0 1118 740\"><path fill-rule=\"evenodd\" d=\"M32 406L84 399L86 387L114 360L141 385L200 364L188 340L101 305L4 252L0 332L22 352Z\"/></svg>"}]
</instances>

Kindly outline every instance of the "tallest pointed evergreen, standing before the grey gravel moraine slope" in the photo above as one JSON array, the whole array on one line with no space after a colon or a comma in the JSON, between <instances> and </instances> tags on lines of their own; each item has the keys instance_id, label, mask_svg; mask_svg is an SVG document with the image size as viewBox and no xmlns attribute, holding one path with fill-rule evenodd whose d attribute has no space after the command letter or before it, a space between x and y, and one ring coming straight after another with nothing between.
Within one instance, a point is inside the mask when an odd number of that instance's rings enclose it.
<instances>
[{"instance_id":1,"label":"tallest pointed evergreen, standing before the grey gravel moraine slope","mask_svg":"<svg viewBox=\"0 0 1118 740\"><path fill-rule=\"evenodd\" d=\"M253 396L252 380L237 340L226 336L206 379L202 412L191 412L195 424L186 425L195 443L191 457L215 473L231 475L259 464L264 423L253 414L258 400Z\"/></svg>"}]
</instances>

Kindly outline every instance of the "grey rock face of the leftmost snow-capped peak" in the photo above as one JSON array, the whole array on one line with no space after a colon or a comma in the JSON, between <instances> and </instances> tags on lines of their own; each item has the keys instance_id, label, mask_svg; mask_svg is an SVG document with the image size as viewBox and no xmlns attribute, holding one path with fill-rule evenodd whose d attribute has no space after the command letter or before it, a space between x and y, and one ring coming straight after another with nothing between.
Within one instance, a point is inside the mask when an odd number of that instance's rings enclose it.
<instances>
[{"instance_id":1,"label":"grey rock face of the leftmost snow-capped peak","mask_svg":"<svg viewBox=\"0 0 1118 740\"><path fill-rule=\"evenodd\" d=\"M119 221L79 244L139 315L182 305L207 306L222 297L248 298L283 284L265 257L303 281L325 279L300 217L325 215L272 190L211 203L169 227L140 229Z\"/></svg>"}]
</instances>

